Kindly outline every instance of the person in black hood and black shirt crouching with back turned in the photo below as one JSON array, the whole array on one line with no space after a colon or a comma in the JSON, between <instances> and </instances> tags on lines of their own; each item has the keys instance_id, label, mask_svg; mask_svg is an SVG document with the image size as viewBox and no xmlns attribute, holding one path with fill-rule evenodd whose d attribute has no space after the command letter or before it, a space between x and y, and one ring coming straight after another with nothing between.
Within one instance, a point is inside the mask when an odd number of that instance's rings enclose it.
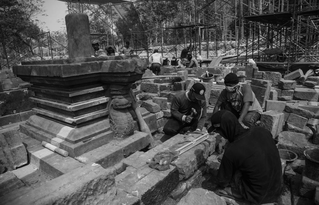
<instances>
[{"instance_id":1,"label":"person in black hood and black shirt crouching with back turned","mask_svg":"<svg viewBox=\"0 0 319 205\"><path fill-rule=\"evenodd\" d=\"M255 204L276 202L283 178L270 131L263 127L245 129L227 110L213 114L211 125L208 133L216 130L230 142L217 172L219 188L215 194Z\"/></svg>"}]
</instances>

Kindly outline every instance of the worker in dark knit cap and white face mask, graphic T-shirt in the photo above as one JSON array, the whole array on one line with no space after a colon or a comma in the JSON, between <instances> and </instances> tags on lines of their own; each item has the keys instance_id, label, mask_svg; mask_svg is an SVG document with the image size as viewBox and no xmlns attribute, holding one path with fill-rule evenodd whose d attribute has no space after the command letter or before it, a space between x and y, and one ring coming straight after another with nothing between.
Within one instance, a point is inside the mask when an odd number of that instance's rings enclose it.
<instances>
[{"instance_id":1,"label":"worker in dark knit cap and white face mask, graphic T-shirt","mask_svg":"<svg viewBox=\"0 0 319 205\"><path fill-rule=\"evenodd\" d=\"M249 84L239 83L239 78L234 73L229 73L224 78L225 89L220 93L213 114L221 110L229 110L244 127L254 127L263 112L255 93Z\"/></svg>"}]
</instances>

